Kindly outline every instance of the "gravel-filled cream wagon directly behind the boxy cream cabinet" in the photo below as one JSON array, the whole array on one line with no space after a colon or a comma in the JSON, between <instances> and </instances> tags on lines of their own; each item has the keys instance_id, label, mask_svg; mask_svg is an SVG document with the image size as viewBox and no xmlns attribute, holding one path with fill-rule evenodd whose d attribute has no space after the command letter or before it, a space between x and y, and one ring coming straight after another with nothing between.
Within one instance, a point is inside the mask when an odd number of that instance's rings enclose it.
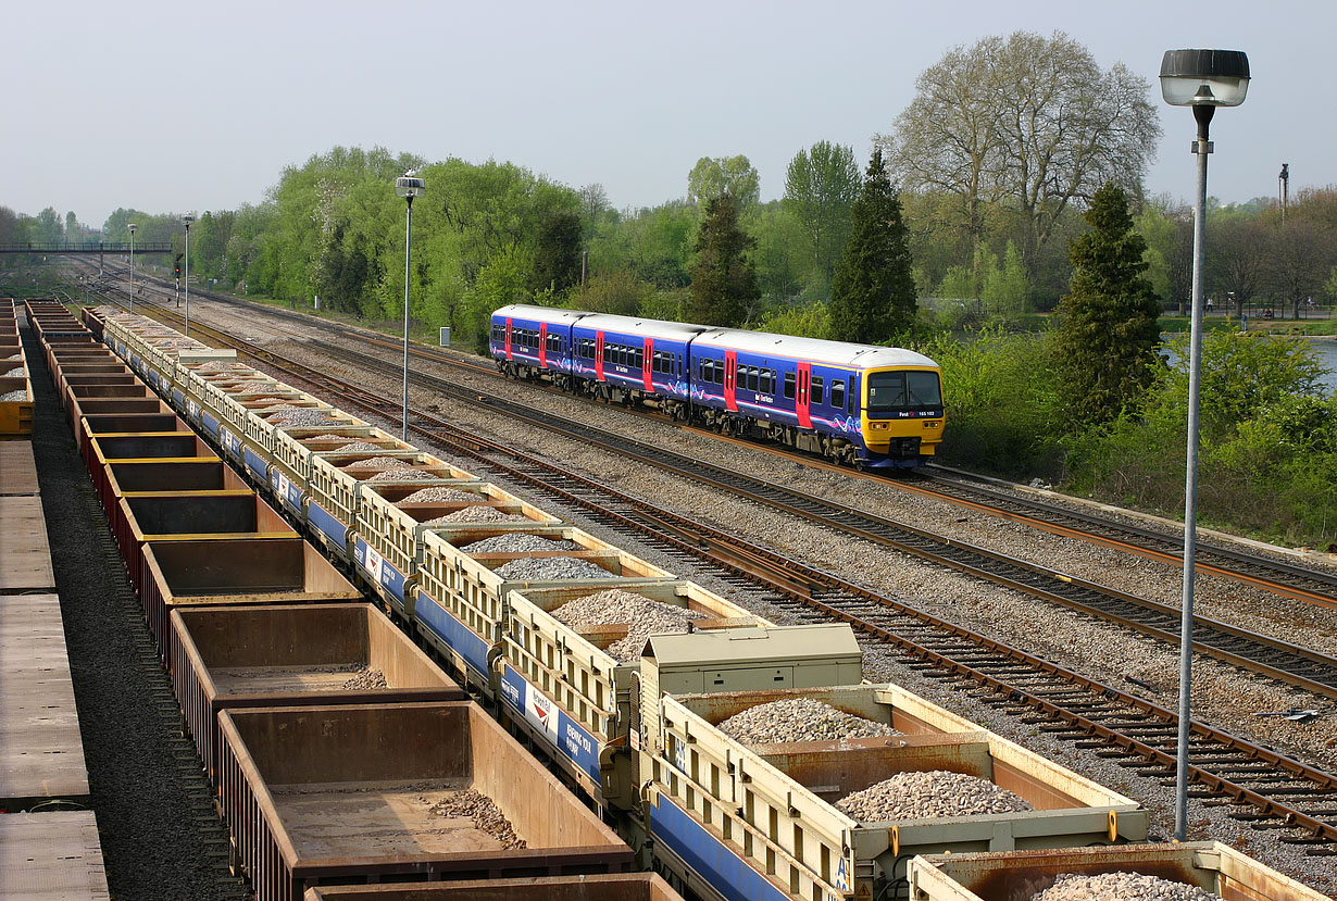
<instances>
[{"instance_id":1,"label":"gravel-filled cream wagon directly behind the boxy cream cabinet","mask_svg":"<svg viewBox=\"0 0 1337 901\"><path fill-rule=\"evenodd\" d=\"M463 549L483 559L500 547L543 549L524 541L552 544L558 535L499 535ZM503 541L508 544L499 547ZM564 551L543 552L560 560ZM623 809L635 799L628 731L646 639L763 623L679 580L517 587L507 598L505 616L501 699L590 797Z\"/></svg>"}]
</instances>

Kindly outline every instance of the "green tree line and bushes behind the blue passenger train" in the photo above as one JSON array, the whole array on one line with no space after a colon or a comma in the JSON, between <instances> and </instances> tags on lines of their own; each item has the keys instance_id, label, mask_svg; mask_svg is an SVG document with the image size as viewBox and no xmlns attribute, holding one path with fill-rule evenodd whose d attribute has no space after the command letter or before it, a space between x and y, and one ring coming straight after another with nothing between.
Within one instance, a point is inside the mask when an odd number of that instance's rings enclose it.
<instances>
[{"instance_id":1,"label":"green tree line and bushes behind the blue passenger train","mask_svg":"<svg viewBox=\"0 0 1337 901\"><path fill-rule=\"evenodd\" d=\"M618 210L599 184L511 162L334 147L285 168L259 203L203 213L191 271L242 294L397 319L404 203L392 184L417 168L420 324L479 342L491 310L532 302L894 341L943 365L949 461L1158 505L1182 491L1166 460L1183 446L1185 378L1166 362L1157 314L1186 309L1193 227L1183 205L1143 190L1162 131L1150 98L1144 79L1102 68L1062 32L985 37L920 75L866 159L829 140L800 148L771 202L745 155L703 156L682 198ZM127 239L131 221L146 241L182 243L175 214L128 209L103 237ZM1337 295L1337 190L1301 190L1286 210L1211 205L1206 226L1218 309L1298 314ZM72 213L0 209L0 239L78 229ZM1300 430L1337 421L1312 356L1233 332L1214 333L1207 354L1234 374L1205 380L1205 409L1219 408L1205 429L1205 515L1282 532L1317 521L1332 535L1337 489L1314 489L1306 473L1332 471L1337 436Z\"/></svg>"}]
</instances>

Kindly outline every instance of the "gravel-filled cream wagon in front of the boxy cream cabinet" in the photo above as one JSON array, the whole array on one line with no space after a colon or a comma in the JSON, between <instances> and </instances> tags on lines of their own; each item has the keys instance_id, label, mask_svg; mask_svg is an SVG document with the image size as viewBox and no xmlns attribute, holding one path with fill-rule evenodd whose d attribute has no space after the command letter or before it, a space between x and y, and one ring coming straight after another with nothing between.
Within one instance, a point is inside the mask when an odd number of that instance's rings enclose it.
<instances>
[{"instance_id":1,"label":"gravel-filled cream wagon in front of the boxy cream cabinet","mask_svg":"<svg viewBox=\"0 0 1337 901\"><path fill-rule=\"evenodd\" d=\"M838 694L829 699L841 707ZM898 722L906 734L854 723L861 735L830 737L822 733L850 723L777 709L793 722L745 721L737 729L755 731L739 739L722 730L727 719L711 723L666 698L651 749L656 848L670 866L707 846L727 854L706 856L702 873L726 897L893 897L916 854L1146 840L1147 814L1132 799L993 733L928 731L935 722L948 730L971 723L908 692L890 699L913 714L862 718ZM850 707L844 713L861 713ZM809 725L817 741L800 734Z\"/></svg>"}]
</instances>

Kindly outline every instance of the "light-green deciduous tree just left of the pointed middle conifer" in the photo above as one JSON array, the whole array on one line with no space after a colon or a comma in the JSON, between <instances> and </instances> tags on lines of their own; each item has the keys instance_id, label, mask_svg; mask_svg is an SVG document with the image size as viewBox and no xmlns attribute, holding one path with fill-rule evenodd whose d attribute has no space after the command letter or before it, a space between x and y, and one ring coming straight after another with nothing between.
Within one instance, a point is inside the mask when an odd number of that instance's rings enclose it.
<instances>
[{"instance_id":1,"label":"light-green deciduous tree just left of the pointed middle conifer","mask_svg":"<svg viewBox=\"0 0 1337 901\"><path fill-rule=\"evenodd\" d=\"M802 226L813 265L828 283L849 237L849 211L858 191L858 163L850 147L820 140L789 160L785 210Z\"/></svg>"}]
</instances>

